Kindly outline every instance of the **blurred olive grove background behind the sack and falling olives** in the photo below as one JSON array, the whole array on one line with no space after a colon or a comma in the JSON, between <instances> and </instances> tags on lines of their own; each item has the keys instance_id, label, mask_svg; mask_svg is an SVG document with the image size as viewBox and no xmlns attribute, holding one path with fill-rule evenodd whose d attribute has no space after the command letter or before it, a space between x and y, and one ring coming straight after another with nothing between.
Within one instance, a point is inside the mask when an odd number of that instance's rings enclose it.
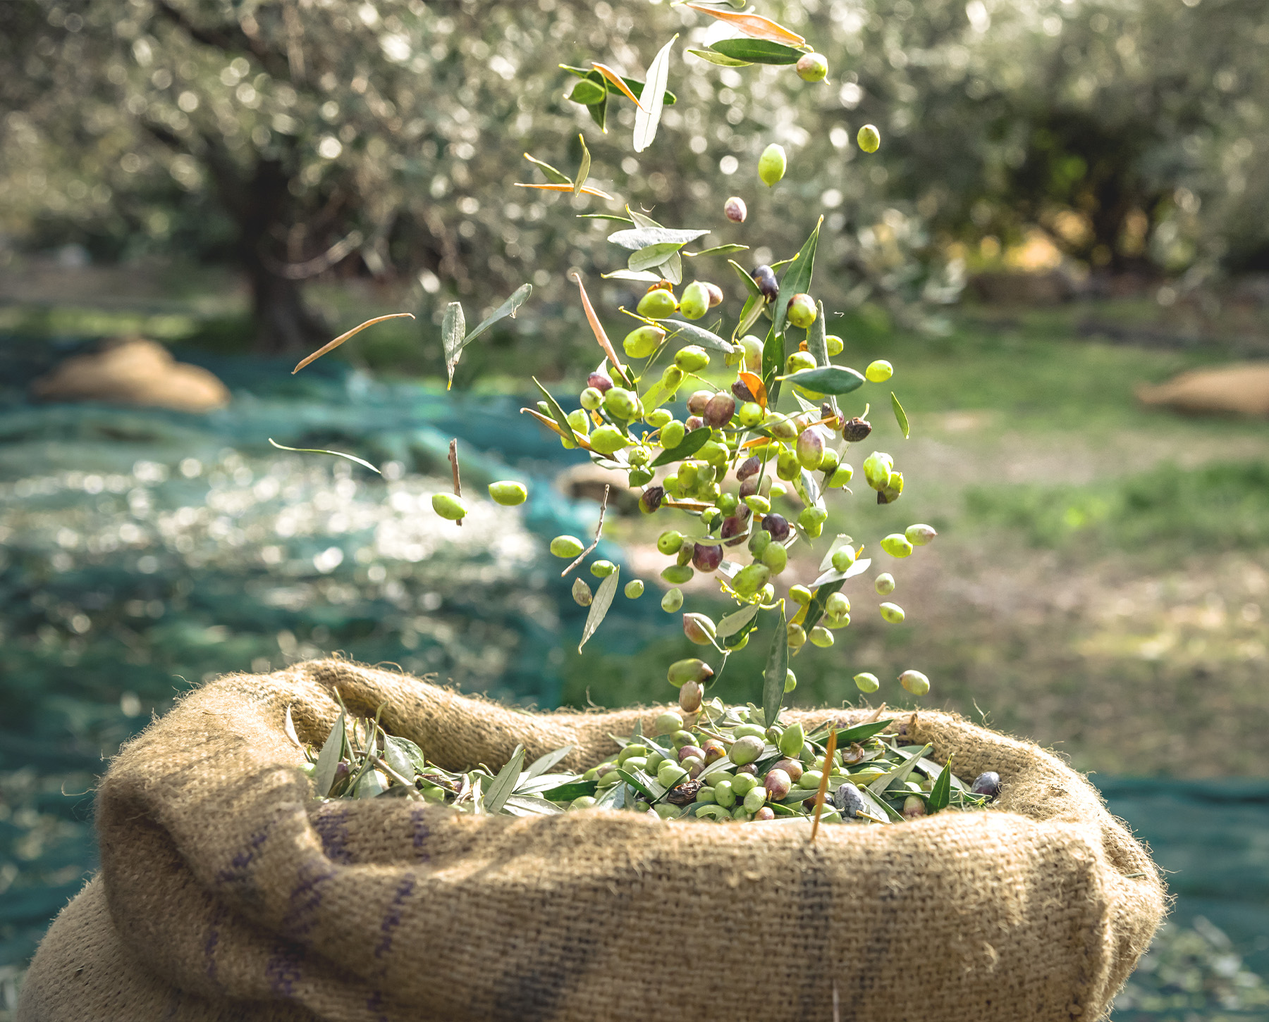
<instances>
[{"instance_id":1,"label":"blurred olive grove background behind the sack and falling olives","mask_svg":"<svg viewBox=\"0 0 1269 1022\"><path fill-rule=\"evenodd\" d=\"M902 566L907 623L857 612L798 657L796 700L915 666L923 705L1093 771L1179 895L1115 1018L1269 1018L1269 10L760 6L826 84L684 56L721 30L647 0L0 4L0 1017L94 869L94 777L203 678L343 650L524 705L664 697L685 644L652 585L666 522L614 502L604 550L650 591L579 654L546 543L593 530L594 477L519 415L529 374L575 396L598 360L566 273L610 331L634 297L599 276L624 260L610 224L576 218L619 202L514 186L543 180L524 152L571 172L584 132L593 184L754 264L822 214L831 330L897 368L912 439L886 410L874 436L904 524L940 538ZM599 133L557 63L642 77L675 32L676 103L634 156L631 105ZM739 311L722 260L692 271ZM447 392L445 304L476 322L523 283ZM418 320L291 375L397 311ZM129 337L157 345L133 345L156 392L188 372L170 351L228 403L46 385ZM1230 366L1188 415L1142 399ZM452 437L468 487L523 478L530 502L440 522ZM895 511L843 502L829 527ZM722 694L754 697L756 664Z\"/></svg>"}]
</instances>

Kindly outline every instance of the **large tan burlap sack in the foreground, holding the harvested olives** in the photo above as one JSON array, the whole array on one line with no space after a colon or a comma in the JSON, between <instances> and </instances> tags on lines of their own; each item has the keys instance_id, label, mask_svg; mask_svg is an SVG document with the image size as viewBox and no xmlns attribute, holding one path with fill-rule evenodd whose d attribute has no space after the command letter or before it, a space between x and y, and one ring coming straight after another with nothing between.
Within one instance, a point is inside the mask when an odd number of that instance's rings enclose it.
<instances>
[{"instance_id":1,"label":"large tan burlap sack in the foreground, holding the harvested olives","mask_svg":"<svg viewBox=\"0 0 1269 1022\"><path fill-rule=\"evenodd\" d=\"M576 742L655 710L523 714L341 661L233 675L114 761L102 877L49 931L20 1022L1099 1017L1164 890L1080 776L940 713L906 738L996 770L989 812L891 827L472 817L317 803L286 737L371 711L448 767ZM843 719L853 715L845 711ZM820 714L802 714L819 720Z\"/></svg>"}]
</instances>

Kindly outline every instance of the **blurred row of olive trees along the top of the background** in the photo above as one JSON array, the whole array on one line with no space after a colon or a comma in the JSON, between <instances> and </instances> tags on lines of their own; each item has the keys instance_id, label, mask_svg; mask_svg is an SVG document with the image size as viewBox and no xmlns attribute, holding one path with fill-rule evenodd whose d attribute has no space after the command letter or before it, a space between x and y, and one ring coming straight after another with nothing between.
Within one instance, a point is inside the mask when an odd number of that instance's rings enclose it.
<instances>
[{"instance_id":1,"label":"blurred row of olive trees along the top of the background","mask_svg":"<svg viewBox=\"0 0 1269 1022\"><path fill-rule=\"evenodd\" d=\"M532 280L537 317L567 335L562 270L608 270L613 255L603 221L582 227L566 210L603 203L511 185L541 180L523 151L575 166L580 146L560 139L584 131L594 183L664 222L721 227L723 197L739 193L749 224L792 251L822 209L821 260L844 306L881 295L904 314L916 298L952 299L956 256L990 257L1034 224L1094 266L1152 262L1199 280L1222 260L1269 260L1269 228L1251 216L1269 193L1261 4L793 0L764 11L827 56L829 84L684 56L726 30L667 4L6 4L0 230L100 257L236 260L273 345L321 332L296 285L331 266L409 275L407 301L429 311L453 294L492 307ZM563 99L571 79L537 58L549 49L640 77L674 32L679 101L638 158L599 136ZM610 138L632 120L621 104ZM851 142L865 120L883 136L871 157ZM774 190L754 174L770 141L791 153ZM553 349L560 340L552 331Z\"/></svg>"}]
</instances>

